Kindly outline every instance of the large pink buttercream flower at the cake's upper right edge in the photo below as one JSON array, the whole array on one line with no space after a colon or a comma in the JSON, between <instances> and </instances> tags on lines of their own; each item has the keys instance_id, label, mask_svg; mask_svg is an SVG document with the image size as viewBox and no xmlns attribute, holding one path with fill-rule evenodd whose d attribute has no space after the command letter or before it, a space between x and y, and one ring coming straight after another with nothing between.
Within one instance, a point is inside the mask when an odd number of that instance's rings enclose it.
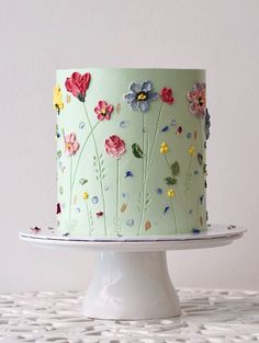
<instances>
[{"instance_id":1,"label":"large pink buttercream flower at the cake's upper right edge","mask_svg":"<svg viewBox=\"0 0 259 343\"><path fill-rule=\"evenodd\" d=\"M203 117L206 108L206 85L205 83L194 83L193 89L187 93L190 102L189 112L198 117Z\"/></svg>"}]
</instances>

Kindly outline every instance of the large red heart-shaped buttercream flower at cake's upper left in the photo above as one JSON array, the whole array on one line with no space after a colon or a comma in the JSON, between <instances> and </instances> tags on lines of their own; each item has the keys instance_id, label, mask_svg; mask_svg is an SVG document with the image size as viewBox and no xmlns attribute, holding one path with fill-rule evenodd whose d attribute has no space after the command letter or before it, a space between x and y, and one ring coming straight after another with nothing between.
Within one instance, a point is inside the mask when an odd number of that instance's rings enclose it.
<instances>
[{"instance_id":1,"label":"large red heart-shaped buttercream flower at cake's upper left","mask_svg":"<svg viewBox=\"0 0 259 343\"><path fill-rule=\"evenodd\" d=\"M85 102L90 81L91 75L89 72L80 75L76 71L70 78L67 78L65 85L68 92L72 93L79 101Z\"/></svg>"}]
</instances>

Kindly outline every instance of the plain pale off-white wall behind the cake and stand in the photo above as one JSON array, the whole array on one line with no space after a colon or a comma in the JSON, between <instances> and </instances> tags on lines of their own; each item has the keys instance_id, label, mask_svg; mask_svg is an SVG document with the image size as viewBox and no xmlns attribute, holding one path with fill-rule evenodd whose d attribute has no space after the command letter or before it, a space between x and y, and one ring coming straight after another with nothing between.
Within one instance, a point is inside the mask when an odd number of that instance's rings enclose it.
<instances>
[{"instance_id":1,"label":"plain pale off-white wall behind the cake and stand","mask_svg":"<svg viewBox=\"0 0 259 343\"><path fill-rule=\"evenodd\" d=\"M94 255L36 249L18 231L55 224L55 69L205 68L211 222L225 248L170 252L177 287L259 288L259 1L1 1L0 291L83 289Z\"/></svg>"}]
</instances>

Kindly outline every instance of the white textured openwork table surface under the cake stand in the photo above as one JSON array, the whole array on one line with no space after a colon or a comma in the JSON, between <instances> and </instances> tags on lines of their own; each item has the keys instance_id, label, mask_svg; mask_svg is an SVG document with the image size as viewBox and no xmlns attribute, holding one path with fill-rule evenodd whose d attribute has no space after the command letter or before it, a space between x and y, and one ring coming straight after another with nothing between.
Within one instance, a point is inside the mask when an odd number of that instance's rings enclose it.
<instances>
[{"instance_id":1,"label":"white textured openwork table surface under the cake stand","mask_svg":"<svg viewBox=\"0 0 259 343\"><path fill-rule=\"evenodd\" d=\"M0 295L0 342L218 343L259 341L259 291L178 290L182 316L164 320L93 320L80 315L85 294Z\"/></svg>"}]
</instances>

